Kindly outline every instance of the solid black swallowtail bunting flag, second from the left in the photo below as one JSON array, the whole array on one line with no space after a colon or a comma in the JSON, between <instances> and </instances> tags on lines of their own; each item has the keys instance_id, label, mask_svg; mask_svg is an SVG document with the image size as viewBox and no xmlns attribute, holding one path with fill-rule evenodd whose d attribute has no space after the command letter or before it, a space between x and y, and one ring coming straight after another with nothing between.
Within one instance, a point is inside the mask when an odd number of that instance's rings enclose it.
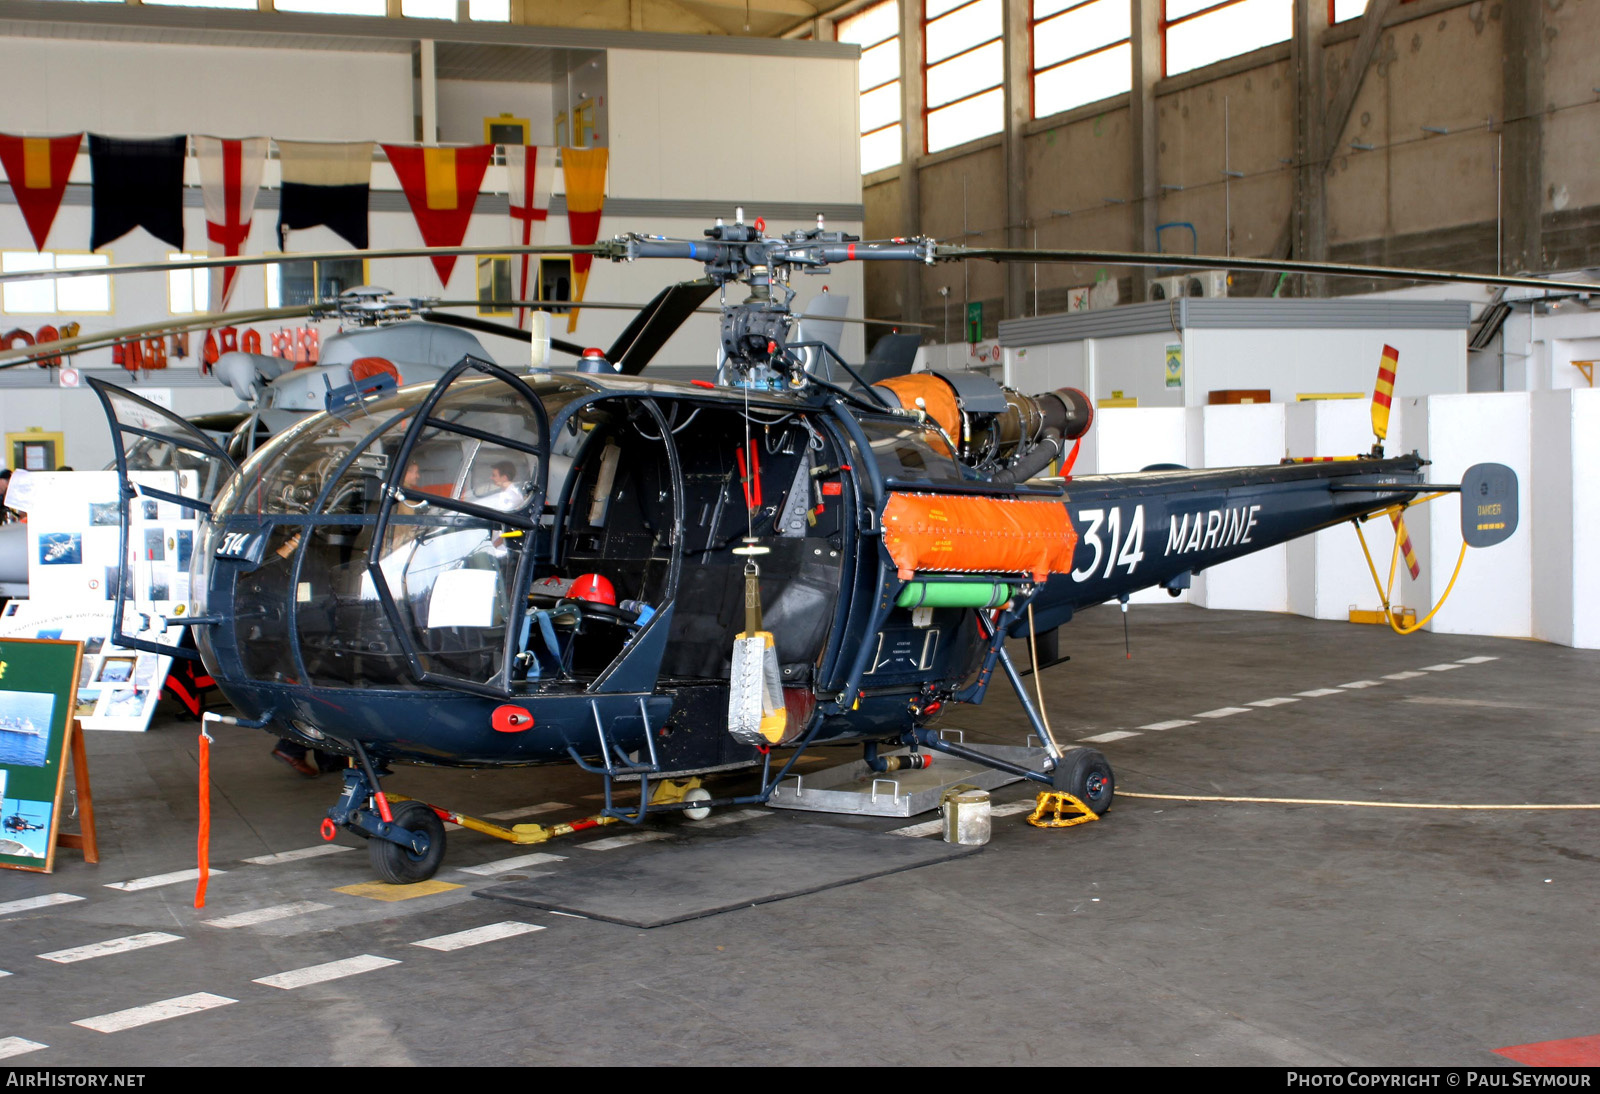
<instances>
[{"instance_id":1,"label":"solid black swallowtail bunting flag, second from the left","mask_svg":"<svg viewBox=\"0 0 1600 1094\"><path fill-rule=\"evenodd\" d=\"M184 154L189 138L125 141L90 133L90 250L136 227L184 250Z\"/></svg>"}]
</instances>

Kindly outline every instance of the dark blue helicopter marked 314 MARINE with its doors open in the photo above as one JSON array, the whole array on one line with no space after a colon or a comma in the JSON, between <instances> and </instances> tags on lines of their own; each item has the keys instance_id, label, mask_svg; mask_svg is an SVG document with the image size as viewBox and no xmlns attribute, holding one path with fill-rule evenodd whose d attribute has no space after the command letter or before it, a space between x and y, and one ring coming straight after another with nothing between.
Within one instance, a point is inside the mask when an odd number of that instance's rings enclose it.
<instances>
[{"instance_id":1,"label":"dark blue helicopter marked 314 MARINE with its doors open","mask_svg":"<svg viewBox=\"0 0 1600 1094\"><path fill-rule=\"evenodd\" d=\"M125 481L123 534L134 496L203 513L192 611L157 622L189 630L238 712L208 718L347 757L323 835L365 838L384 880L432 876L445 819L515 841L578 827L501 830L392 803L394 763L574 763L605 790L594 822L642 824L766 801L808 749L859 744L875 771L946 753L1099 814L1115 795L1110 765L1054 741L1008 638L1043 648L1048 667L1077 611L1150 587L1176 595L1210 566L1419 496L1464 496L1467 545L1515 531L1510 469L1429 483L1419 456L1384 454L1381 425L1370 454L1333 462L1072 477L1093 424L1082 392L1029 395L973 373L869 384L826 342L794 337L790 277L845 261L1109 253L763 227L739 218L704 240L592 248L702 264L694 288L677 286L677 305L651 317L720 291L717 382L650 379L626 347L614 361L586 350L573 371L550 369L544 352L518 371L467 355L430 384L331 392L322 413L235 461L170 411L90 379ZM1382 269L1192 259L1203 262ZM741 286L747 296L730 301ZM1374 397L1384 421L1392 381ZM128 481L141 469L130 453L157 449L205 472L198 496ZM1053 464L1061 475L1042 477ZM123 609L118 645L186 653L123 635ZM1038 763L933 725L982 702L997 677L1045 744ZM778 749L790 750L781 765ZM757 769L758 789L715 798L693 785L734 769Z\"/></svg>"}]
</instances>

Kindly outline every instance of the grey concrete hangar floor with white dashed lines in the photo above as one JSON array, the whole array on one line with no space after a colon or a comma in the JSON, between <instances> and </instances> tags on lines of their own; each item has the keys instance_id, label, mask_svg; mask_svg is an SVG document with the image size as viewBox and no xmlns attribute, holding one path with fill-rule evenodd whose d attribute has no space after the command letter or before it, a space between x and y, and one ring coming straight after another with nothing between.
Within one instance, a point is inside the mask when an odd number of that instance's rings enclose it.
<instances>
[{"instance_id":1,"label":"grey concrete hangar floor with white dashed lines","mask_svg":"<svg viewBox=\"0 0 1600 1094\"><path fill-rule=\"evenodd\" d=\"M269 737L237 729L213 750L211 862L226 873L208 907L192 907L192 883L110 889L194 865L195 729L91 734L99 865L61 851L54 875L0 875L0 905L82 897L0 913L0 1049L46 1046L18 1065L1496 1065L1501 1046L1600 1033L1600 816L1126 797L1597 801L1600 654L1181 605L1131 619L1131 661L1122 621L1096 611L1064 632L1074 661L1045 673L1059 736L1134 734L1099 745L1123 792L1104 822L1046 832L1013 814L968 859L653 931L472 899L528 870L464 867L534 849L467 832L440 873L461 888L403 902L336 891L371 880L362 849L245 864L317 846L336 782L293 776ZM1358 681L1374 686L1341 686ZM1002 688L950 725L1016 742ZM1336 694L1296 696L1317 689ZM1298 702L1250 705L1274 697ZM1242 710L1197 717L1229 707ZM1141 729L1168 721L1192 725ZM597 789L562 768L390 781L469 813L566 803L539 820L592 811ZM995 801L1030 797L1013 785ZM586 849L613 827L542 849L622 862L816 820L672 822L672 838ZM301 900L326 907L206 923ZM413 945L507 921L544 929ZM37 956L146 932L174 939ZM358 955L398 963L294 990L254 982ZM74 1025L192 993L234 1001L112 1033Z\"/></svg>"}]
</instances>

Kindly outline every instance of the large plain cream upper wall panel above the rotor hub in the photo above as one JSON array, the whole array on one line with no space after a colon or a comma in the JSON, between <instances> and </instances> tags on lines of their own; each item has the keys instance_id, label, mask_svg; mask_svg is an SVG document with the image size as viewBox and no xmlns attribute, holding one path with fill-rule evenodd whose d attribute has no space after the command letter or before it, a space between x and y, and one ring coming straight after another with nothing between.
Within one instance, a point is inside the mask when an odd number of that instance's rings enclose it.
<instances>
[{"instance_id":1,"label":"large plain cream upper wall panel above the rotor hub","mask_svg":"<svg viewBox=\"0 0 1600 1094\"><path fill-rule=\"evenodd\" d=\"M861 200L854 61L606 56L613 194Z\"/></svg>"}]
</instances>

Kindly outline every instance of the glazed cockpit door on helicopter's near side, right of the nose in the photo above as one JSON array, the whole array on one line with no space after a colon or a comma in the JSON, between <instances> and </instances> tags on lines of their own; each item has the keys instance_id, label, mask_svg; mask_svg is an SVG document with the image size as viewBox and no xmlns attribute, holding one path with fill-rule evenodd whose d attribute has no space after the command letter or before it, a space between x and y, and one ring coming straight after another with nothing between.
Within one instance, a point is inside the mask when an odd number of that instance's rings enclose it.
<instances>
[{"instance_id":1,"label":"glazed cockpit door on helicopter's near side, right of the nose","mask_svg":"<svg viewBox=\"0 0 1600 1094\"><path fill-rule=\"evenodd\" d=\"M544 405L462 358L389 467L366 571L418 683L509 697L549 457Z\"/></svg>"}]
</instances>

